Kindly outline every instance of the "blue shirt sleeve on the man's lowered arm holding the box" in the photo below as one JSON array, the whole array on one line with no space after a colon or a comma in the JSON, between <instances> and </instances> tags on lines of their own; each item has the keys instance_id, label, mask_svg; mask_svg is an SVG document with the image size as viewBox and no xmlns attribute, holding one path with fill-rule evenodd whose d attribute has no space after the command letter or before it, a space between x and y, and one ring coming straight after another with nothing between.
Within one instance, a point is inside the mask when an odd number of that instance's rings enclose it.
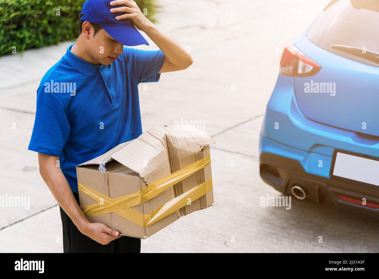
<instances>
[{"instance_id":1,"label":"blue shirt sleeve on the man's lowered arm holding the box","mask_svg":"<svg viewBox=\"0 0 379 279\"><path fill-rule=\"evenodd\" d=\"M69 134L70 125L64 103L55 93L45 92L45 86L39 87L28 150L60 156Z\"/></svg>"}]
</instances>

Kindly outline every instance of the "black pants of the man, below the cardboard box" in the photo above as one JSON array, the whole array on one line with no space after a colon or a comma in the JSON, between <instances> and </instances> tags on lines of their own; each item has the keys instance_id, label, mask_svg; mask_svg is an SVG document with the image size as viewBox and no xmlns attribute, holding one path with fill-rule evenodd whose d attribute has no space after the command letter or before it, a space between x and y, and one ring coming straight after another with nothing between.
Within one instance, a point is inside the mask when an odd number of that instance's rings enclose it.
<instances>
[{"instance_id":1,"label":"black pants of the man, below the cardboard box","mask_svg":"<svg viewBox=\"0 0 379 279\"><path fill-rule=\"evenodd\" d=\"M79 194L72 192L79 204ZM92 240L88 236L82 234L70 217L61 211L62 228L63 228L63 252L64 253L140 253L141 239L135 237L122 236L107 245Z\"/></svg>"}]
</instances>

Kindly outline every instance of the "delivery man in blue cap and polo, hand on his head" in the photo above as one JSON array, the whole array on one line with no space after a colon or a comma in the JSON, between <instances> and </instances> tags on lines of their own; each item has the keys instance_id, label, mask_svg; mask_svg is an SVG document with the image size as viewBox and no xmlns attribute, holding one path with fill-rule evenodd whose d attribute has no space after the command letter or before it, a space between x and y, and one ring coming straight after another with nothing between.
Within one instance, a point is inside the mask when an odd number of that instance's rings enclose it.
<instances>
[{"instance_id":1,"label":"delivery man in blue cap and polo, hand on his head","mask_svg":"<svg viewBox=\"0 0 379 279\"><path fill-rule=\"evenodd\" d=\"M124 47L149 45L133 24L160 49ZM133 0L87 0L79 31L42 78L28 149L60 205L64 252L140 252L141 239L86 219L75 166L141 135L138 84L186 69L192 57Z\"/></svg>"}]
</instances>

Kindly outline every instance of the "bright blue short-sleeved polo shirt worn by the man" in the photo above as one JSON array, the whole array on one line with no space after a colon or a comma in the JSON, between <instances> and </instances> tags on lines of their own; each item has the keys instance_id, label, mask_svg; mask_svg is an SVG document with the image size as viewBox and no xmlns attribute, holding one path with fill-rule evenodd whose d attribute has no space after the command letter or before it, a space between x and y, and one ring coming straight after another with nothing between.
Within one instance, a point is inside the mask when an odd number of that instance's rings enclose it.
<instances>
[{"instance_id":1,"label":"bright blue short-sleeved polo shirt worn by the man","mask_svg":"<svg viewBox=\"0 0 379 279\"><path fill-rule=\"evenodd\" d=\"M124 47L109 66L97 66L71 53L72 45L41 80L28 149L59 156L78 193L75 166L141 135L137 86L159 81L165 56Z\"/></svg>"}]
</instances>

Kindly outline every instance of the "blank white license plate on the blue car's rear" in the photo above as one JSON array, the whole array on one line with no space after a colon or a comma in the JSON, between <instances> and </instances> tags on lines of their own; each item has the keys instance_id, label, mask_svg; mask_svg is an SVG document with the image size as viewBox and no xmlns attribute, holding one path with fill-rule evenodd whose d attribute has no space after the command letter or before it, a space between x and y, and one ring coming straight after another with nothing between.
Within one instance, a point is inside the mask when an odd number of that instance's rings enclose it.
<instances>
[{"instance_id":1,"label":"blank white license plate on the blue car's rear","mask_svg":"<svg viewBox=\"0 0 379 279\"><path fill-rule=\"evenodd\" d=\"M379 186L379 161L337 152L333 175Z\"/></svg>"}]
</instances>

